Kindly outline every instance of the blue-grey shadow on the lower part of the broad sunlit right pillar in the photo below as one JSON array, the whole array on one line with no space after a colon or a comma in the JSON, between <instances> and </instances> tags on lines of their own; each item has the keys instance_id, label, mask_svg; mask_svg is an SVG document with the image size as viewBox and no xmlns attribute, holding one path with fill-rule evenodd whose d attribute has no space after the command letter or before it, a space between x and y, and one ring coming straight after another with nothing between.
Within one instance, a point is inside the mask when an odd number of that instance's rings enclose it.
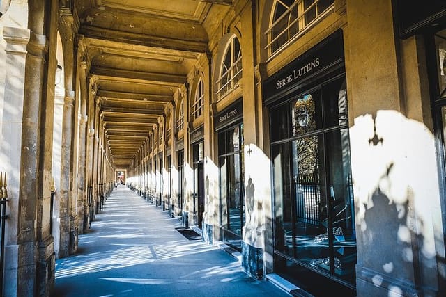
<instances>
[{"instance_id":1,"label":"blue-grey shadow on the lower part of the broad sunlit right pillar","mask_svg":"<svg viewBox=\"0 0 446 297\"><path fill-rule=\"evenodd\" d=\"M410 207L414 200L413 191L408 188L405 202L399 204L379 186L387 183L388 188L392 188L389 178L392 167L393 163L380 178L371 203L364 204L366 227L362 229L364 242L362 255L358 255L358 260L362 258L362 261L358 264L366 269L358 276L396 294L417 296L420 282L426 285L422 273L429 272L426 271L429 268L424 266L434 262L434 256L423 252L424 221L416 216L415 208ZM435 275L433 267L430 273Z\"/></svg>"}]
</instances>

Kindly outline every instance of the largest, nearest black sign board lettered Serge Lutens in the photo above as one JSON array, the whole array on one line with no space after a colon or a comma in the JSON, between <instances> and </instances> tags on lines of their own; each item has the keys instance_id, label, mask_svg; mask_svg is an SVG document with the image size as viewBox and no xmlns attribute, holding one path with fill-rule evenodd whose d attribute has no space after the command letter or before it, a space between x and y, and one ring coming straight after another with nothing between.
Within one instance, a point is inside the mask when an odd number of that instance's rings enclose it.
<instances>
[{"instance_id":1,"label":"largest, nearest black sign board lettered Serge Lutens","mask_svg":"<svg viewBox=\"0 0 446 297\"><path fill-rule=\"evenodd\" d=\"M343 62L344 46L341 31L338 31L268 78L263 83L263 103L283 96L329 67Z\"/></svg>"}]
</instances>

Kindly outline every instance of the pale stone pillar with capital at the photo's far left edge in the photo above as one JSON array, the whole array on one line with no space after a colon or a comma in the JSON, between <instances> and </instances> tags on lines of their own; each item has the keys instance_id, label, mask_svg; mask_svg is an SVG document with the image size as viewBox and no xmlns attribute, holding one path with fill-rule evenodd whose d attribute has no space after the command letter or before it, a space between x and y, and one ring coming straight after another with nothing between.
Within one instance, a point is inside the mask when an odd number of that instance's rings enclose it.
<instances>
[{"instance_id":1,"label":"pale stone pillar with capital at the photo's far left edge","mask_svg":"<svg viewBox=\"0 0 446 297\"><path fill-rule=\"evenodd\" d=\"M33 257L28 259L24 257L29 250L33 251L33 238L31 238L32 230L29 230L27 236L22 236L19 241L18 236L20 230L24 225L20 221L24 218L22 207L20 206L20 175L13 174L13 172L20 172L20 152L22 144L22 119L24 109L24 86L25 86L25 60L26 60L26 45L29 42L30 32L28 29L3 27L3 38L6 41L6 56L5 60L1 61L5 70L4 81L4 104L9 106L16 106L16 110L0 109L2 111L1 122L1 139L8 145L0 145L0 160L2 171L8 172L8 220L6 220L6 243L5 243L5 269L4 269L4 291L0 294L4 296L17 296L19 287L21 292L25 292L26 288L33 289L33 274L26 277L26 271L33 271ZM38 47L38 42L43 42ZM36 53L42 58L43 48L45 46L44 40L36 40L33 42L37 45L34 48L40 48L40 54ZM38 61L38 56L31 59L37 66L41 66ZM4 64L3 64L4 63ZM39 73L36 73L36 79L39 79ZM32 81L27 78L27 81ZM33 98L38 100L38 98ZM26 131L30 131L27 129ZM33 132L35 134L36 131ZM29 143L29 141L27 142ZM35 150L35 149L34 149ZM31 156L28 156L31 158ZM29 191L27 192L29 193ZM31 196L33 197L33 196ZM27 200L32 199L26 198ZM32 220L32 214L28 213L27 220ZM20 225L19 225L20 224ZM26 228L26 227L24 227ZM31 254L33 255L33 254ZM20 280L19 280L20 279ZM20 283L22 282L22 283ZM26 294L24 296L31 296Z\"/></svg>"}]
</instances>

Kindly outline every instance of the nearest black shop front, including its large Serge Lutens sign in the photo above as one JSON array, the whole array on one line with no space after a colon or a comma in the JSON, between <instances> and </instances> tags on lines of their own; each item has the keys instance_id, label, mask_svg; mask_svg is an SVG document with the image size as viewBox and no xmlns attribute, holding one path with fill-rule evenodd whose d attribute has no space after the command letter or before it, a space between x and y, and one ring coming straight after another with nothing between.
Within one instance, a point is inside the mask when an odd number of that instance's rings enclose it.
<instances>
[{"instance_id":1,"label":"nearest black shop front, including its large Serge Lutens sign","mask_svg":"<svg viewBox=\"0 0 446 297\"><path fill-rule=\"evenodd\" d=\"M337 31L263 84L270 112L274 269L323 296L330 290L355 296L346 83Z\"/></svg>"}]
</instances>

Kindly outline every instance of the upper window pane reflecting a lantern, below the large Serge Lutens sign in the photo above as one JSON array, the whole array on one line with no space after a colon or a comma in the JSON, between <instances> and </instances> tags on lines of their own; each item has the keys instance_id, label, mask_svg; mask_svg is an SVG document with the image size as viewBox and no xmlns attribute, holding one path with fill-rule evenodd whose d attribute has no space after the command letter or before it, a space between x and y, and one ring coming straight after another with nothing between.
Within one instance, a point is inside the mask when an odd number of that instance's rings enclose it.
<instances>
[{"instance_id":1,"label":"upper window pane reflecting a lantern, below the large Serge Lutens sign","mask_svg":"<svg viewBox=\"0 0 446 297\"><path fill-rule=\"evenodd\" d=\"M293 136L322 128L321 92L316 90L298 98L291 104Z\"/></svg>"}]
</instances>

